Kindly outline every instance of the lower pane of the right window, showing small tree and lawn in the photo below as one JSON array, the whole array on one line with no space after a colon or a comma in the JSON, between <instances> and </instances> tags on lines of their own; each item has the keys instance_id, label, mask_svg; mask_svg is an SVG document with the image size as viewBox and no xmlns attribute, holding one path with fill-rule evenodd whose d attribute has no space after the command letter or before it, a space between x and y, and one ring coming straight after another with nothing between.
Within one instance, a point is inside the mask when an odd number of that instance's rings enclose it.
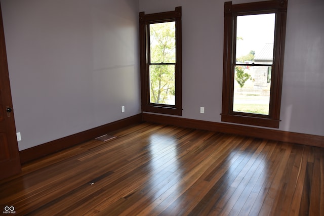
<instances>
[{"instance_id":1,"label":"lower pane of the right window, showing small tree and lawn","mask_svg":"<svg viewBox=\"0 0 324 216\"><path fill-rule=\"evenodd\" d=\"M269 115L271 66L236 66L234 77L233 111Z\"/></svg>"}]
</instances>

